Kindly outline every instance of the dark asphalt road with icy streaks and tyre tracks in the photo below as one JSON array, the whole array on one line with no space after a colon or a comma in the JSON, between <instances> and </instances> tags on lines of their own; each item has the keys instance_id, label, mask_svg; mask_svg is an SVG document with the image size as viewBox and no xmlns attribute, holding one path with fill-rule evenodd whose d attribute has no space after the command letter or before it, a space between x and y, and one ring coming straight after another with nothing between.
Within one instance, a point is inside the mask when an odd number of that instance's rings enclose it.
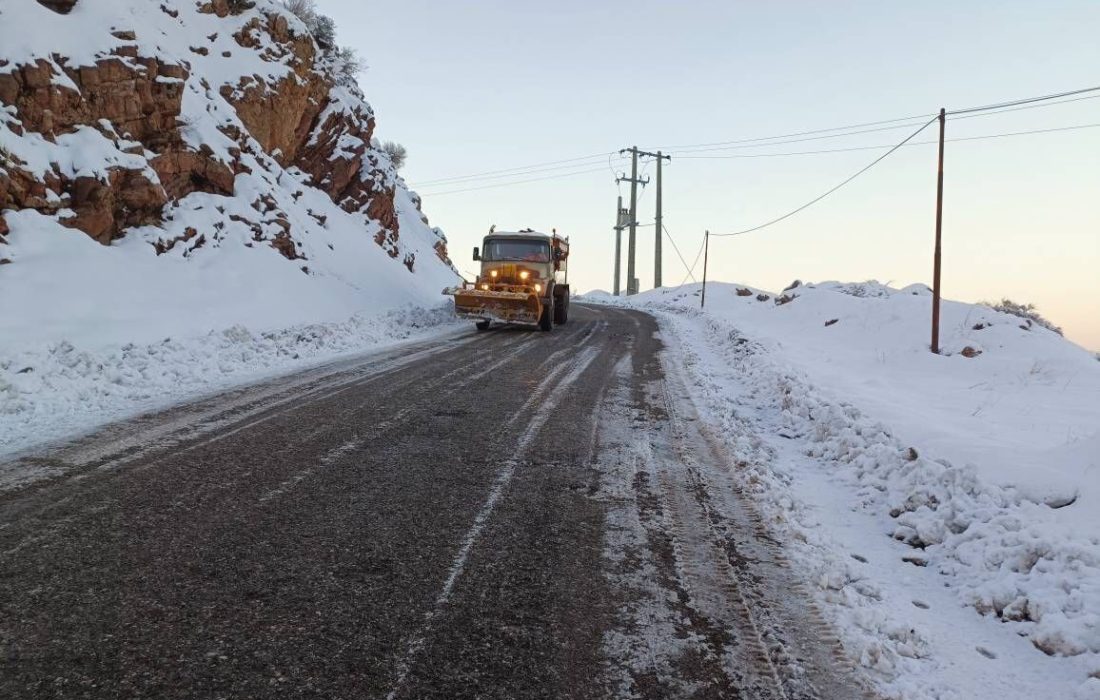
<instances>
[{"instance_id":1,"label":"dark asphalt road with icy streaks and tyre tracks","mask_svg":"<svg viewBox=\"0 0 1100 700\"><path fill-rule=\"evenodd\" d=\"M0 698L861 697L656 321L572 310L0 464Z\"/></svg>"}]
</instances>

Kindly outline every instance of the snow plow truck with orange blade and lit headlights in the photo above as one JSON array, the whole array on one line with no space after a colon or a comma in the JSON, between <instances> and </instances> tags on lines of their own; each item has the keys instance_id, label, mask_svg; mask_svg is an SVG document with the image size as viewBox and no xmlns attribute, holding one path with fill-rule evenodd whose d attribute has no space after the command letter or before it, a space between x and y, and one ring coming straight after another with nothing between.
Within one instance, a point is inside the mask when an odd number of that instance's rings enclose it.
<instances>
[{"instance_id":1,"label":"snow plow truck with orange blade and lit headlights","mask_svg":"<svg viewBox=\"0 0 1100 700\"><path fill-rule=\"evenodd\" d=\"M455 313L476 321L477 330L494 321L551 330L569 320L569 238L490 229L474 260L481 261L477 278L443 294L454 297Z\"/></svg>"}]
</instances>

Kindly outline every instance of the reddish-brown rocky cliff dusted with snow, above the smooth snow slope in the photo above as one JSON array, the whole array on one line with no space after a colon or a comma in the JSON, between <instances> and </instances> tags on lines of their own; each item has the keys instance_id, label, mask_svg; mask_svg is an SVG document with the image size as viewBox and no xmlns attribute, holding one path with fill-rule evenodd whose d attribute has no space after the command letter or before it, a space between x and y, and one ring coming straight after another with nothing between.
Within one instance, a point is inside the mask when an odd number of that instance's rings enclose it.
<instances>
[{"instance_id":1,"label":"reddish-brown rocky cliff dusted with snow, above the smooth snow slope","mask_svg":"<svg viewBox=\"0 0 1100 700\"><path fill-rule=\"evenodd\" d=\"M61 226L130 256L274 251L364 293L378 263L346 256L373 255L438 294L446 239L341 61L274 0L3 3L0 262Z\"/></svg>"}]
</instances>

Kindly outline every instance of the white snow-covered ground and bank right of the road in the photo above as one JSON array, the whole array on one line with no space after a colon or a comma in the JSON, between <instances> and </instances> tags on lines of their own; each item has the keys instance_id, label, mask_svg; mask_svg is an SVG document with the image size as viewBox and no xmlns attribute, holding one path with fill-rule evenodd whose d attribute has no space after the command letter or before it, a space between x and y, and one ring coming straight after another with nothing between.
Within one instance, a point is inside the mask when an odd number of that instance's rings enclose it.
<instances>
[{"instance_id":1,"label":"white snow-covered ground and bank right of the road","mask_svg":"<svg viewBox=\"0 0 1100 700\"><path fill-rule=\"evenodd\" d=\"M920 285L785 295L585 298L658 316L740 483L886 697L1100 698L1100 361L955 302L935 356Z\"/></svg>"}]
</instances>

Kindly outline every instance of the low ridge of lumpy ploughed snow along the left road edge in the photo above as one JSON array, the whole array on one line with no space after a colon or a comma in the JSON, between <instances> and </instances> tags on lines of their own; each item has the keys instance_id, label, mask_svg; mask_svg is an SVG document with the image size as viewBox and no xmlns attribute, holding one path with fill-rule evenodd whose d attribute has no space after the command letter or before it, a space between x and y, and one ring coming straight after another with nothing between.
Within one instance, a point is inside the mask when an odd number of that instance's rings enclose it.
<instances>
[{"instance_id":1,"label":"low ridge of lumpy ploughed snow along the left road edge","mask_svg":"<svg viewBox=\"0 0 1100 700\"><path fill-rule=\"evenodd\" d=\"M0 455L341 356L461 328L449 305L160 342L40 343L0 354Z\"/></svg>"}]
</instances>

